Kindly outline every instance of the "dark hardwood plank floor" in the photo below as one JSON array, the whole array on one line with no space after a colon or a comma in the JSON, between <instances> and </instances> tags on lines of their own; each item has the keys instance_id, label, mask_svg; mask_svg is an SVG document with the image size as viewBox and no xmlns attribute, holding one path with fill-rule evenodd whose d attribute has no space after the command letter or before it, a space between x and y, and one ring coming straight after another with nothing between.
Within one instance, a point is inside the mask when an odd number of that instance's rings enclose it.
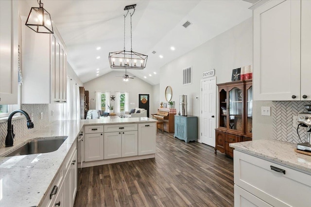
<instances>
[{"instance_id":1,"label":"dark hardwood plank floor","mask_svg":"<svg viewBox=\"0 0 311 207\"><path fill-rule=\"evenodd\" d=\"M78 172L80 169L78 169ZM157 133L155 159L83 168L75 207L233 207L233 160Z\"/></svg>"}]
</instances>

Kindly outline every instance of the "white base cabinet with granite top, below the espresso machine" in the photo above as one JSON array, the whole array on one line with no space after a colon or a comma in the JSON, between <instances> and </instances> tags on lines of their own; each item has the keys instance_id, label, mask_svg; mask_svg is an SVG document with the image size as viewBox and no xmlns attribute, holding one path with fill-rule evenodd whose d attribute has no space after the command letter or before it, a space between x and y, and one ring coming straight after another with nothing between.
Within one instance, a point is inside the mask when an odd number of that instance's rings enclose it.
<instances>
[{"instance_id":1,"label":"white base cabinet with granite top, below the espresso machine","mask_svg":"<svg viewBox=\"0 0 311 207\"><path fill-rule=\"evenodd\" d=\"M311 156L294 143L230 143L234 150L234 206L311 206Z\"/></svg>"}]
</instances>

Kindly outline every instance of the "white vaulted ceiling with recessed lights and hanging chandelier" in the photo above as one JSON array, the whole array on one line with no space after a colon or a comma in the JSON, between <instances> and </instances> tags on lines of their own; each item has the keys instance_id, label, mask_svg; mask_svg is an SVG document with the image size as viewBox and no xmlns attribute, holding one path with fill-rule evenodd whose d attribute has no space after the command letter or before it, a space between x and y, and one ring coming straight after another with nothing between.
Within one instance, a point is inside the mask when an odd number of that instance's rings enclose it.
<instances>
[{"instance_id":1,"label":"white vaulted ceiling with recessed lights and hanging chandelier","mask_svg":"<svg viewBox=\"0 0 311 207\"><path fill-rule=\"evenodd\" d=\"M99 76L123 71L110 69L108 53L123 50L126 5L137 4L132 16L133 51L148 55L144 70L128 72L152 85L159 83L161 66L252 16L248 9L252 3L243 0L41 1L68 48L69 64L83 82L97 78L97 71ZM37 7L35 0L28 2ZM182 26L186 21L191 23L187 28ZM125 48L130 50L129 16L125 33Z\"/></svg>"}]
</instances>

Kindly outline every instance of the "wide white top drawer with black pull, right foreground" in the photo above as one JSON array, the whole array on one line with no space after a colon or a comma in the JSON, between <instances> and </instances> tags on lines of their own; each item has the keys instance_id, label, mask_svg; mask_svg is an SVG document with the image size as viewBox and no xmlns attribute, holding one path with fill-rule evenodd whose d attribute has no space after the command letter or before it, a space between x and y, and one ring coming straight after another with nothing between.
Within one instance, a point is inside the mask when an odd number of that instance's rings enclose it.
<instances>
[{"instance_id":1,"label":"wide white top drawer with black pull, right foreground","mask_svg":"<svg viewBox=\"0 0 311 207\"><path fill-rule=\"evenodd\" d=\"M276 172L276 167L283 172ZM234 183L276 207L311 207L311 175L234 151Z\"/></svg>"}]
</instances>

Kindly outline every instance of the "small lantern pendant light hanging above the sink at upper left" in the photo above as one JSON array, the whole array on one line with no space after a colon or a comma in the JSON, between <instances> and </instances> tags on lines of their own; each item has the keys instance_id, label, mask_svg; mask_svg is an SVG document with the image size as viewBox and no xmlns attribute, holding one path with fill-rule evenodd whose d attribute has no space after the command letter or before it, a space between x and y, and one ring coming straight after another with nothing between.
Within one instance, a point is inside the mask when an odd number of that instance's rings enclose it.
<instances>
[{"instance_id":1,"label":"small lantern pendant light hanging above the sink at upper left","mask_svg":"<svg viewBox=\"0 0 311 207\"><path fill-rule=\"evenodd\" d=\"M28 15L26 26L37 33L53 34L50 13L43 8L41 0L37 0L39 7L32 7Z\"/></svg>"}]
</instances>

